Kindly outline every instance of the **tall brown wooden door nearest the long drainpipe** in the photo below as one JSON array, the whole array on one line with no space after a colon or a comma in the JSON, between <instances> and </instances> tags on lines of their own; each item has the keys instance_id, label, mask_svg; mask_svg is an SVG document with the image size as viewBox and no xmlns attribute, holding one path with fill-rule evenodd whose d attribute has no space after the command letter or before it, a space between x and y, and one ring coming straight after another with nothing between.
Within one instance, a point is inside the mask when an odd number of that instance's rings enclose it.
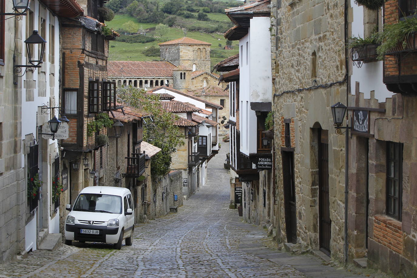
<instances>
[{"instance_id":1,"label":"tall brown wooden door nearest the long drainpipe","mask_svg":"<svg viewBox=\"0 0 417 278\"><path fill-rule=\"evenodd\" d=\"M329 139L328 131L319 132L319 244L330 255L332 220L329 208Z\"/></svg>"}]
</instances>

